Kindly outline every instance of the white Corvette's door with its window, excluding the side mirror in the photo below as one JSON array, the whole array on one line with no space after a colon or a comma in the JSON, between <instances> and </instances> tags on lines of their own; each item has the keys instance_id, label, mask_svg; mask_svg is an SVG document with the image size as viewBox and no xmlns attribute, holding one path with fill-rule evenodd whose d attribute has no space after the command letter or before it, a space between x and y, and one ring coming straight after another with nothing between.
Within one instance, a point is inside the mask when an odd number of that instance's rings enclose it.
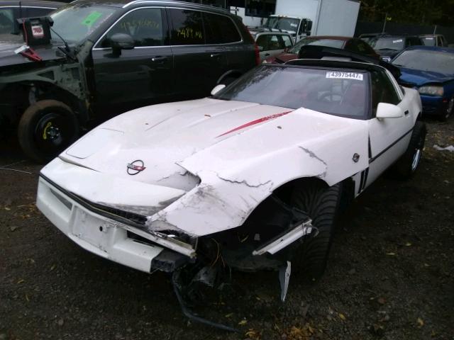
<instances>
[{"instance_id":1,"label":"white Corvette's door with its window, excluding the side mirror","mask_svg":"<svg viewBox=\"0 0 454 340\"><path fill-rule=\"evenodd\" d=\"M410 97L402 93L392 75L385 70L373 71L372 119L369 120L369 169L366 186L375 181L390 165L406 151L413 129L414 115L410 114ZM377 119L375 113L379 103L390 103L402 110L401 118Z\"/></svg>"}]
</instances>

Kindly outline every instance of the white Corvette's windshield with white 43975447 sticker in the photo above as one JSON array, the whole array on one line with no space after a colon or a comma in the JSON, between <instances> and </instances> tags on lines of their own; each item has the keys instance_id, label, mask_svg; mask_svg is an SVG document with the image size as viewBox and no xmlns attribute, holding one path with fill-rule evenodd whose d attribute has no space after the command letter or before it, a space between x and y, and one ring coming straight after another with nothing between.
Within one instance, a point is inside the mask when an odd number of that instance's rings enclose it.
<instances>
[{"instance_id":1,"label":"white Corvette's windshield with white 43975447 sticker","mask_svg":"<svg viewBox=\"0 0 454 340\"><path fill-rule=\"evenodd\" d=\"M365 118L367 73L343 69L309 69L262 65L214 98Z\"/></svg>"}]
</instances>

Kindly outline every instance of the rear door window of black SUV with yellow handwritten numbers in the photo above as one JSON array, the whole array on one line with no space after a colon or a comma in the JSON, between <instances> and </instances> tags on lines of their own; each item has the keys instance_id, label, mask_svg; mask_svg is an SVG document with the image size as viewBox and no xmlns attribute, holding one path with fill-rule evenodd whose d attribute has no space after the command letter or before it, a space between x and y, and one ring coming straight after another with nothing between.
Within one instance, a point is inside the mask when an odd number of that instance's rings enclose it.
<instances>
[{"instance_id":1,"label":"rear door window of black SUV with yellow handwritten numbers","mask_svg":"<svg viewBox=\"0 0 454 340\"><path fill-rule=\"evenodd\" d=\"M201 12L175 8L171 8L169 12L172 22L171 45L204 45Z\"/></svg>"}]
</instances>

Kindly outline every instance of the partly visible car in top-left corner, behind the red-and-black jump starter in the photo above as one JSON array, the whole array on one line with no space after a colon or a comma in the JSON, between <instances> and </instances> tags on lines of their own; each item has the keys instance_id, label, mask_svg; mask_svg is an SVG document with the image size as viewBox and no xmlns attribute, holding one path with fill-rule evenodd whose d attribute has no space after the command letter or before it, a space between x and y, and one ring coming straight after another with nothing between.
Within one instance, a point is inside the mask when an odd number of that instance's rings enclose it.
<instances>
[{"instance_id":1,"label":"partly visible car in top-left corner, behind the red-and-black jump starter","mask_svg":"<svg viewBox=\"0 0 454 340\"><path fill-rule=\"evenodd\" d=\"M64 2L47 0L2 0L0 1L0 34L19 33L18 18L47 16L65 5Z\"/></svg>"}]
</instances>

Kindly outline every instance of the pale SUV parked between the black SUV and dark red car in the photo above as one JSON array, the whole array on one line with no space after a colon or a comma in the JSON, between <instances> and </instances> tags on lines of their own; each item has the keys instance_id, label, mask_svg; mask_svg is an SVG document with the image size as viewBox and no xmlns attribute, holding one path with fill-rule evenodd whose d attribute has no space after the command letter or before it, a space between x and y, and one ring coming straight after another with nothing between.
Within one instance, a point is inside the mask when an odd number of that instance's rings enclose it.
<instances>
[{"instance_id":1,"label":"pale SUV parked between the black SUV and dark red car","mask_svg":"<svg viewBox=\"0 0 454 340\"><path fill-rule=\"evenodd\" d=\"M259 32L255 34L255 43L260 51L260 60L275 57L293 46L290 33Z\"/></svg>"}]
</instances>

